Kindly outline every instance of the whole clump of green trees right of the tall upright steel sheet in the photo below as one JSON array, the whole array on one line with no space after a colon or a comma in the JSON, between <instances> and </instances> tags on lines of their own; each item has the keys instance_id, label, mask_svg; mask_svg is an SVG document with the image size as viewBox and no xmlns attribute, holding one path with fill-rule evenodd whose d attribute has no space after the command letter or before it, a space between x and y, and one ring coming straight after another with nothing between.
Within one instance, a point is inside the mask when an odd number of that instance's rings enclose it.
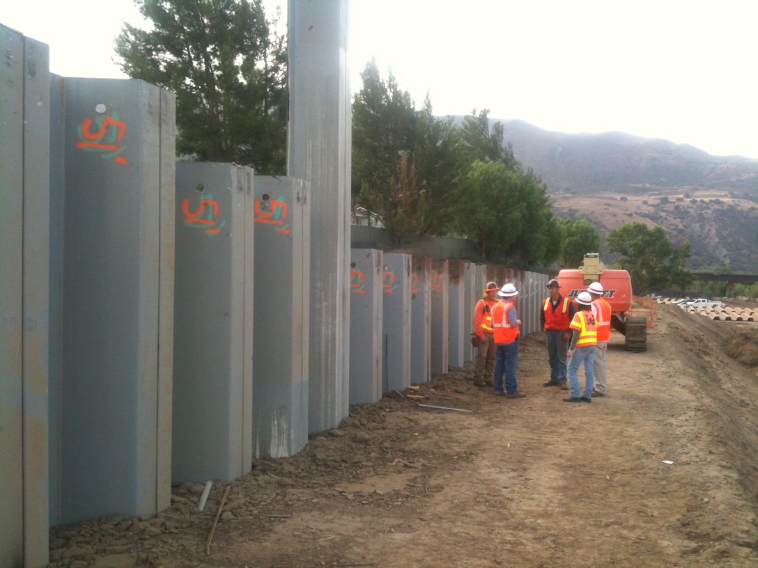
<instances>
[{"instance_id":1,"label":"whole clump of green trees right of the tall upright steel sheet","mask_svg":"<svg viewBox=\"0 0 758 568\"><path fill-rule=\"evenodd\" d=\"M453 119L416 110L390 73L371 61L352 105L352 201L397 236L467 236L490 259L534 266L560 253L560 228L547 187L524 172L503 124L487 111Z\"/></svg>"}]
</instances>

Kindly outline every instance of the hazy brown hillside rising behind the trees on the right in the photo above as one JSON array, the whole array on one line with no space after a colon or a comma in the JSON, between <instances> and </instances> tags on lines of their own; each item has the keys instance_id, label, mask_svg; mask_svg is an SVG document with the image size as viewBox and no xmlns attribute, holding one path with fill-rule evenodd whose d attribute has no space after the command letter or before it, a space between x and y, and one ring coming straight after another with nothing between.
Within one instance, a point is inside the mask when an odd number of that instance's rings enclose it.
<instances>
[{"instance_id":1,"label":"hazy brown hillside rising behind the trees on the right","mask_svg":"<svg viewBox=\"0 0 758 568\"><path fill-rule=\"evenodd\" d=\"M586 217L604 238L641 221L673 244L689 239L688 266L758 273L758 160L624 133L549 132L502 122L515 157L547 184L559 217Z\"/></svg>"}]
</instances>

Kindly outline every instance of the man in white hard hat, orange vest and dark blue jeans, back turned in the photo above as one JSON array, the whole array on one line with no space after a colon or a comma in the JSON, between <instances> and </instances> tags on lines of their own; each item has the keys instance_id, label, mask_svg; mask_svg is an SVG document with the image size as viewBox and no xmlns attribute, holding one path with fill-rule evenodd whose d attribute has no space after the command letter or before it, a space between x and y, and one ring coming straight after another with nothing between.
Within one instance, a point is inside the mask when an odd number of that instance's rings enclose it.
<instances>
[{"instance_id":1,"label":"man in white hard hat, orange vest and dark blue jeans, back turned","mask_svg":"<svg viewBox=\"0 0 758 568\"><path fill-rule=\"evenodd\" d=\"M506 398L524 398L516 382L518 363L518 327L521 320L516 313L515 300L518 292L512 284L506 284L497 292L502 300L492 307L492 326L495 339L495 394ZM503 389L505 375L505 389Z\"/></svg>"}]
</instances>

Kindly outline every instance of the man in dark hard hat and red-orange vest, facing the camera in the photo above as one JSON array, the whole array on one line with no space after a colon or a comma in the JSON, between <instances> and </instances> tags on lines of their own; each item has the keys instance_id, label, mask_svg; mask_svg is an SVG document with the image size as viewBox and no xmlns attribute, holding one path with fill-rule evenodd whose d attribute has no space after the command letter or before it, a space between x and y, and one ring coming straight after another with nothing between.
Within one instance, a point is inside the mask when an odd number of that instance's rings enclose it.
<instances>
[{"instance_id":1,"label":"man in dark hard hat and red-orange vest, facing the camera","mask_svg":"<svg viewBox=\"0 0 758 568\"><path fill-rule=\"evenodd\" d=\"M550 363L550 380L543 386L559 386L568 390L566 364L568 361L568 340L571 339L571 325L576 314L576 304L571 298L561 295L561 285L556 279L547 282L550 295L545 298L540 311L540 324L547 341L547 359Z\"/></svg>"}]
</instances>

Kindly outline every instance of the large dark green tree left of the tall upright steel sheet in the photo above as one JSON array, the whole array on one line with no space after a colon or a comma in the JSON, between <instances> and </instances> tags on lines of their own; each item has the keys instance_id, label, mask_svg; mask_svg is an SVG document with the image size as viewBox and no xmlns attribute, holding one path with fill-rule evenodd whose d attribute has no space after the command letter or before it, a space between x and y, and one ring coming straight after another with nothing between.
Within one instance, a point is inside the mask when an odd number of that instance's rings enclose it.
<instances>
[{"instance_id":1,"label":"large dark green tree left of the tall upright steel sheet","mask_svg":"<svg viewBox=\"0 0 758 568\"><path fill-rule=\"evenodd\" d=\"M121 69L177 95L177 151L282 174L287 50L255 0L134 0L152 30L125 24Z\"/></svg>"}]
</instances>

